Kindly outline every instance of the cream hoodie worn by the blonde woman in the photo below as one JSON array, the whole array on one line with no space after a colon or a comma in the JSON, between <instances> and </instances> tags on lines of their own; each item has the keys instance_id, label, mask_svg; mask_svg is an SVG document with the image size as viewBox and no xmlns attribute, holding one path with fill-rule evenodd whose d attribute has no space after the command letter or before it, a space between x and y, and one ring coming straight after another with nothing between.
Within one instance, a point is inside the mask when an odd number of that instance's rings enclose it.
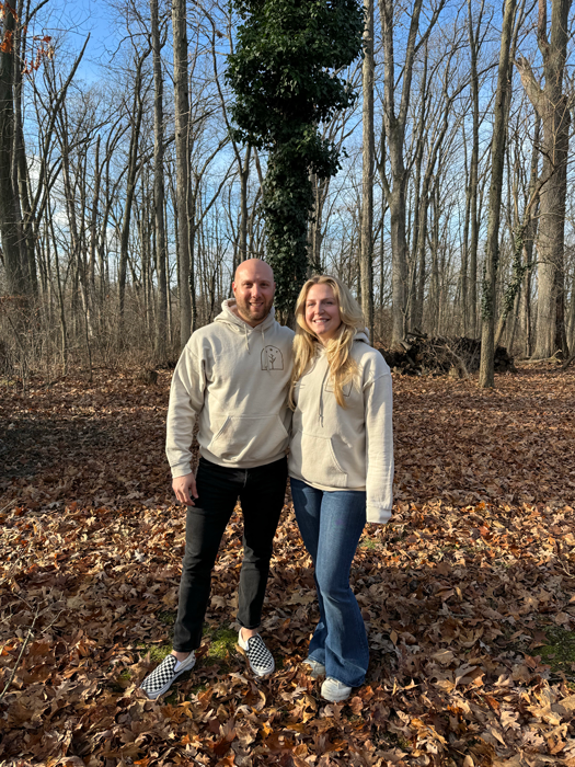
<instances>
[{"instance_id":1,"label":"cream hoodie worn by the blonde woman","mask_svg":"<svg viewBox=\"0 0 575 767\"><path fill-rule=\"evenodd\" d=\"M357 333L356 380L344 386L347 408L333 393L323 346L296 385L289 476L320 490L364 490L367 520L383 524L393 502L391 374L382 355Z\"/></svg>"}]
</instances>

